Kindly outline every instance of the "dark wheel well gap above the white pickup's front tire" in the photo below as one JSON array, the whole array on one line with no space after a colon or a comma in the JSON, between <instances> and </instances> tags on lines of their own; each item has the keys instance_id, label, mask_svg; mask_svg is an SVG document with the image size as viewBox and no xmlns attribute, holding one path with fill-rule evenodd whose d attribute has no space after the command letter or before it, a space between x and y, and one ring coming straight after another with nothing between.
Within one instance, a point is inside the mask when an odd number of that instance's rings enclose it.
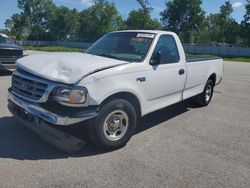
<instances>
[{"instance_id":1,"label":"dark wheel well gap above the white pickup's front tire","mask_svg":"<svg viewBox=\"0 0 250 188\"><path fill-rule=\"evenodd\" d=\"M109 96L108 98L106 98L101 103L101 106L107 104L108 102L110 102L114 99L124 99L124 100L128 101L135 108L137 116L141 117L141 104L140 104L138 98L134 94L129 93L129 92L120 92L120 93L113 94L113 95Z\"/></svg>"}]
</instances>

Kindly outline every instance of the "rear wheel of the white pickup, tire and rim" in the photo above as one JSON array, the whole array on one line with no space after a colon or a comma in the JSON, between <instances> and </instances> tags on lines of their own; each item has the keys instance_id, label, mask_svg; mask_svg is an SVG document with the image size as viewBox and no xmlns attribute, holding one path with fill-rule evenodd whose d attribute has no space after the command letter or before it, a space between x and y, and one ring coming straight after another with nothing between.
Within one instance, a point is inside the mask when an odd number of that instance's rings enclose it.
<instances>
[{"instance_id":1,"label":"rear wheel of the white pickup, tire and rim","mask_svg":"<svg viewBox=\"0 0 250 188\"><path fill-rule=\"evenodd\" d=\"M196 97L196 102L201 107L207 106L212 100L213 93L214 93L214 82L212 80L208 80L205 85L204 91Z\"/></svg>"}]
</instances>

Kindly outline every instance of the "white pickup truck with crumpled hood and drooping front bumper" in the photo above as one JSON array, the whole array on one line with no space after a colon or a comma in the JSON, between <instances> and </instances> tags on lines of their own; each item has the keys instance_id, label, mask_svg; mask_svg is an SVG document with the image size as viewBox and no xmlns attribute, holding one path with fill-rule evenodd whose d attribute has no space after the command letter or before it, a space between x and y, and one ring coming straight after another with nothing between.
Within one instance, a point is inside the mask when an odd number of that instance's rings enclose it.
<instances>
[{"instance_id":1,"label":"white pickup truck with crumpled hood and drooping front bumper","mask_svg":"<svg viewBox=\"0 0 250 188\"><path fill-rule=\"evenodd\" d=\"M124 146L137 120L194 97L209 104L222 59L187 59L175 33L108 33L86 53L46 53L16 62L9 109L26 125L86 124L91 142Z\"/></svg>"}]
</instances>

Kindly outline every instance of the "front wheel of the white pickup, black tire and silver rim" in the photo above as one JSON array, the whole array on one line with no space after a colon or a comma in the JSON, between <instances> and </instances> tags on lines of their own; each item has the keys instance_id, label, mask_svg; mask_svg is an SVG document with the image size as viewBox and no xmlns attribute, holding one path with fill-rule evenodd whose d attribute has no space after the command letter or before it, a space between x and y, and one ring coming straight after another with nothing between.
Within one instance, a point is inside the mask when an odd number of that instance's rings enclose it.
<instances>
[{"instance_id":1,"label":"front wheel of the white pickup, black tire and silver rim","mask_svg":"<svg viewBox=\"0 0 250 188\"><path fill-rule=\"evenodd\" d=\"M136 122L136 111L128 101L110 101L88 125L90 141L102 150L121 148L134 134Z\"/></svg>"}]
</instances>

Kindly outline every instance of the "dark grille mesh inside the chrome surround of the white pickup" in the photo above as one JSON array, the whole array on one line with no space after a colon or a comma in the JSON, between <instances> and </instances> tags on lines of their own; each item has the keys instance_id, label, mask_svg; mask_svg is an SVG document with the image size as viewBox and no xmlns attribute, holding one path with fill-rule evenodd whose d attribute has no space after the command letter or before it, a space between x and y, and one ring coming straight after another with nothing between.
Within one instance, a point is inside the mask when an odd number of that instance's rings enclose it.
<instances>
[{"instance_id":1,"label":"dark grille mesh inside the chrome surround of the white pickup","mask_svg":"<svg viewBox=\"0 0 250 188\"><path fill-rule=\"evenodd\" d=\"M39 101L44 95L48 85L33 79L13 74L12 90L21 97Z\"/></svg>"}]
</instances>

